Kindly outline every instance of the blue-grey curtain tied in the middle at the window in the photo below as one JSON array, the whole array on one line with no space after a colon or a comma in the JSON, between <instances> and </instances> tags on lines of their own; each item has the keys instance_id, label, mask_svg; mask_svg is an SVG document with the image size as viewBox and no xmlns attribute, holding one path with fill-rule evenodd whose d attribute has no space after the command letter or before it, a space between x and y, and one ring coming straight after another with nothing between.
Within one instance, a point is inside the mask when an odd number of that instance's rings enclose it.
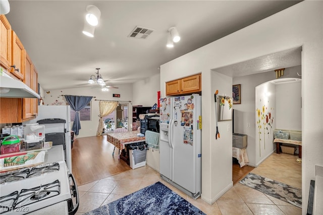
<instances>
[{"instance_id":1,"label":"blue-grey curtain tied in the middle at the window","mask_svg":"<svg viewBox=\"0 0 323 215\"><path fill-rule=\"evenodd\" d=\"M74 131L75 135L79 135L79 130L81 129L79 111L85 108L86 104L88 104L93 97L65 95L65 98L67 102L71 105L71 109L75 111L75 120L73 122L72 131Z\"/></svg>"}]
</instances>

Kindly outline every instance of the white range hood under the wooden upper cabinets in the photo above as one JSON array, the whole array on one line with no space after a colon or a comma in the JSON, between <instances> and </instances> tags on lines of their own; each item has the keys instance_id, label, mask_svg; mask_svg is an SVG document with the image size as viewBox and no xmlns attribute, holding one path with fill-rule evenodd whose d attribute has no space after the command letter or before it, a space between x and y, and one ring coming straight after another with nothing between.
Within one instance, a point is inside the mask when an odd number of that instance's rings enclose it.
<instances>
[{"instance_id":1,"label":"white range hood under the wooden upper cabinets","mask_svg":"<svg viewBox=\"0 0 323 215\"><path fill-rule=\"evenodd\" d=\"M0 97L40 98L40 95L22 81L7 76L0 76Z\"/></svg>"}]
</instances>

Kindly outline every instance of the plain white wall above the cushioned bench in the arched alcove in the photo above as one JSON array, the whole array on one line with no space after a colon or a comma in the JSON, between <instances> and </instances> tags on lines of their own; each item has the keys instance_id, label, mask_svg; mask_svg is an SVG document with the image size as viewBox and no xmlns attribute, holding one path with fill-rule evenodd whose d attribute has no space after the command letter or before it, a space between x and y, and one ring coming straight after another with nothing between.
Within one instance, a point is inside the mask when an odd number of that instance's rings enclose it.
<instances>
[{"instance_id":1,"label":"plain white wall above the cushioned bench in the arched alcove","mask_svg":"<svg viewBox=\"0 0 323 215\"><path fill-rule=\"evenodd\" d=\"M301 81L276 85L276 128L302 130L301 88Z\"/></svg>"}]
</instances>

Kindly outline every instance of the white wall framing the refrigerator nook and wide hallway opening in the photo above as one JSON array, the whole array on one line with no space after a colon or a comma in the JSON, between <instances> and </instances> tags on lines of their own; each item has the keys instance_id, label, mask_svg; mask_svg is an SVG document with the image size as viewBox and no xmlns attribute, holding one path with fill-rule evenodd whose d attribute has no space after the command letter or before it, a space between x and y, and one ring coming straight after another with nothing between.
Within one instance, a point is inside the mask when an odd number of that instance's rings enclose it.
<instances>
[{"instance_id":1,"label":"white wall framing the refrigerator nook and wide hallway opening","mask_svg":"<svg viewBox=\"0 0 323 215\"><path fill-rule=\"evenodd\" d=\"M211 69L302 46L303 214L307 209L310 180L315 176L314 165L323 165L323 94L318 94L323 83L322 11L322 1L303 1L160 67L161 96L165 95L165 82L202 73L202 126L214 128L215 122L211 120L214 116ZM313 101L316 101L315 105ZM232 171L230 168L215 173L218 166L228 161L212 163L211 146L216 144L212 132L212 129L202 129L201 197L209 203L221 193L216 193L218 190L227 188L218 184L218 180Z\"/></svg>"}]
</instances>

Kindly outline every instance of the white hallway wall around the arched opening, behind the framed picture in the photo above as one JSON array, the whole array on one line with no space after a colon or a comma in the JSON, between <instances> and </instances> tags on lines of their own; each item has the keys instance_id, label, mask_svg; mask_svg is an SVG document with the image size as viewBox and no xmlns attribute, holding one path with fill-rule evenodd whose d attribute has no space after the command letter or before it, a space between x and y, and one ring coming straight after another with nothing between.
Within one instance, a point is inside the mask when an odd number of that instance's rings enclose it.
<instances>
[{"instance_id":1,"label":"white hallway wall around the arched opening, behind the framed picture","mask_svg":"<svg viewBox=\"0 0 323 215\"><path fill-rule=\"evenodd\" d=\"M299 78L297 73L301 74L301 66L285 68L282 78ZM255 121L255 87L276 79L275 71L257 73L233 78L233 84L241 84L241 104L234 104L234 132L246 134L248 136L247 154L249 166L256 167L256 121ZM300 94L299 94L300 95ZM276 102L277 104L277 102ZM285 104L285 102L283 103ZM276 108L277 110L277 108ZM279 110L278 110L279 111ZM299 115L301 116L301 115ZM277 119L277 118L276 118ZM274 123L277 122L275 119ZM248 127L250 126L250 127ZM275 126L276 128L277 126ZM299 129L301 130L301 129Z\"/></svg>"}]
</instances>

